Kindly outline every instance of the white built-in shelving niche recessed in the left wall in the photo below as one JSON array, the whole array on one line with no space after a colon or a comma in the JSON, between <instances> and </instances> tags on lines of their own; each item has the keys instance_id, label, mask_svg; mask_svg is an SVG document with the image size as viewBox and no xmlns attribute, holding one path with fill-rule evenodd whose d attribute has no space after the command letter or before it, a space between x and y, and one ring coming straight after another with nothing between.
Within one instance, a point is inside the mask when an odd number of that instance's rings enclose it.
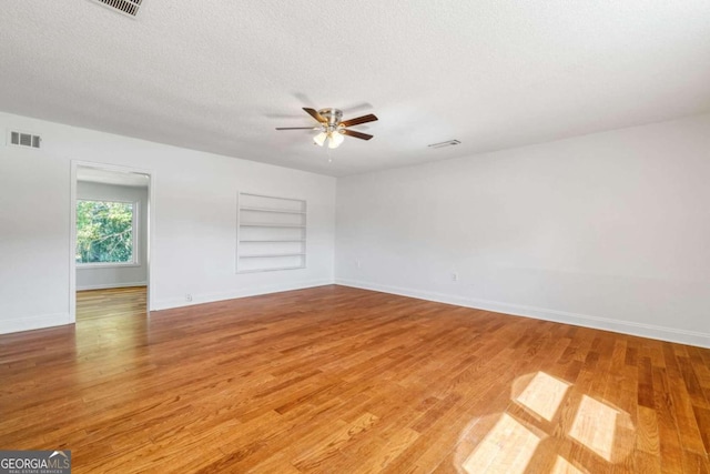
<instances>
[{"instance_id":1,"label":"white built-in shelving niche recessed in the left wall","mask_svg":"<svg viewBox=\"0 0 710 474\"><path fill-rule=\"evenodd\" d=\"M236 272L306 268L306 201L239 194Z\"/></svg>"}]
</instances>

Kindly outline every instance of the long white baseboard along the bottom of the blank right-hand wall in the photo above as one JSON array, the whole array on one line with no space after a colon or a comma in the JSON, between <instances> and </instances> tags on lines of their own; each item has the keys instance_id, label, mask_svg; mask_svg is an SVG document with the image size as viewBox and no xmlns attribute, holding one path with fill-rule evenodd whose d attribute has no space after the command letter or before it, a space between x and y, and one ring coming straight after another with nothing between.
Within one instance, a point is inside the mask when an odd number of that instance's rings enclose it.
<instances>
[{"instance_id":1,"label":"long white baseboard along the bottom of the blank right-hand wall","mask_svg":"<svg viewBox=\"0 0 710 474\"><path fill-rule=\"evenodd\" d=\"M457 306L474 307L477 310L494 311L515 316L535 317L538 320L554 321L557 323L572 324L604 331L612 331L622 334L638 335L661 341L677 342L701 347L710 347L710 334L678 330L674 327L657 326L652 324L635 323L630 321L612 320L608 317L590 316L587 314L568 313L565 311L548 310L545 307L525 306L520 304L500 303L497 301L476 300L473 297L457 296L445 293L410 290L399 286L367 283L355 280L336 279L335 284L359 288L363 290L379 291L383 293L398 294L419 300L435 301L438 303L455 304Z\"/></svg>"}]
</instances>

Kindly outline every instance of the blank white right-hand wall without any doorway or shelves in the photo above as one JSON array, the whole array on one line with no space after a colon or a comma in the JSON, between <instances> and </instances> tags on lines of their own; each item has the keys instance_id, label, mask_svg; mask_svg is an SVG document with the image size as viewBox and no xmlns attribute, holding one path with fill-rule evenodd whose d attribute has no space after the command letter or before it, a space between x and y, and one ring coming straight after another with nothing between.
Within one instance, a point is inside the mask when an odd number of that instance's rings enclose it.
<instances>
[{"instance_id":1,"label":"blank white right-hand wall without any doorway or shelves","mask_svg":"<svg viewBox=\"0 0 710 474\"><path fill-rule=\"evenodd\" d=\"M710 114L349 177L336 282L710 346L709 208Z\"/></svg>"}]
</instances>

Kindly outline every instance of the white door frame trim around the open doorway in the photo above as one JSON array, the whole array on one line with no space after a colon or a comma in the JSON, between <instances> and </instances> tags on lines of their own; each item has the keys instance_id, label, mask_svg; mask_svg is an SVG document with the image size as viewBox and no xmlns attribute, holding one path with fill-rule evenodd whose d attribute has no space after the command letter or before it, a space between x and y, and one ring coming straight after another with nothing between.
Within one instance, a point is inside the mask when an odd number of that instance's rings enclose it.
<instances>
[{"instance_id":1,"label":"white door frame trim around the open doorway","mask_svg":"<svg viewBox=\"0 0 710 474\"><path fill-rule=\"evenodd\" d=\"M93 168L102 171L113 171L120 173L140 173L148 175L148 229L145 229L148 248L145 249L145 271L148 280L146 294L146 312L150 314L153 307L153 278L152 266L152 249L155 238L155 204L153 199L153 188L155 180L155 171L144 168L125 167L119 164L98 163L92 161L71 160L71 191L70 191L70 219L69 219L69 323L77 322L77 169Z\"/></svg>"}]
</instances>

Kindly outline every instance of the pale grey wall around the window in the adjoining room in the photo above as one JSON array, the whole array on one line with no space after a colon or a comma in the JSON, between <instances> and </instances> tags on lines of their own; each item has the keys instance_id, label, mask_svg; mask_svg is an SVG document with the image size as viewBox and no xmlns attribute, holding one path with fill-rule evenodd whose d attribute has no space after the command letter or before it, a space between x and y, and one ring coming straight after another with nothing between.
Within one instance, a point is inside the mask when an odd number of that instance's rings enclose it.
<instances>
[{"instance_id":1,"label":"pale grey wall around the window in the adjoining room","mask_svg":"<svg viewBox=\"0 0 710 474\"><path fill-rule=\"evenodd\" d=\"M138 202L138 264L77 265L77 290L139 286L148 284L148 188L79 181L77 199Z\"/></svg>"}]
</instances>

